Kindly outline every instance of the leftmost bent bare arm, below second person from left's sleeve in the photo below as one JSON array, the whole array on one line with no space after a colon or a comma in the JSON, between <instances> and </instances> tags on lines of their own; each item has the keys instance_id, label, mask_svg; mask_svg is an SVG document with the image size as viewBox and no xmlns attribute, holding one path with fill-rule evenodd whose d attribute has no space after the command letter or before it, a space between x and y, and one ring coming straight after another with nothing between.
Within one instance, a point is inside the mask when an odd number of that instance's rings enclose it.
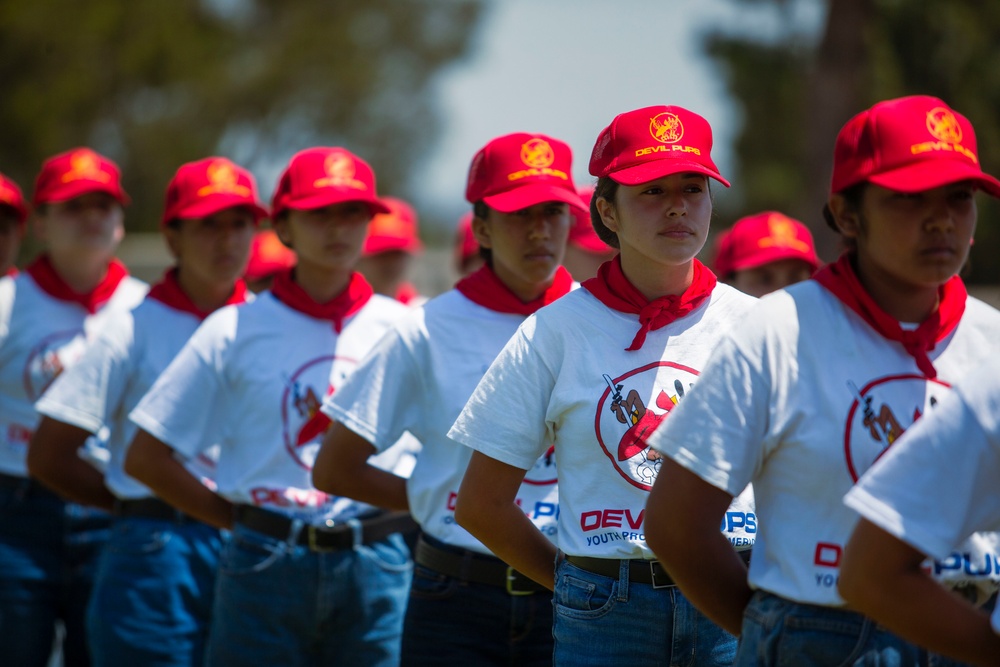
<instances>
[{"instance_id":1,"label":"leftmost bent bare arm, below second person from left's sleeve","mask_svg":"<svg viewBox=\"0 0 1000 667\"><path fill-rule=\"evenodd\" d=\"M111 511L115 497L104 486L104 475L78 451L89 431L51 417L42 417L28 445L28 474L66 500Z\"/></svg>"}]
</instances>

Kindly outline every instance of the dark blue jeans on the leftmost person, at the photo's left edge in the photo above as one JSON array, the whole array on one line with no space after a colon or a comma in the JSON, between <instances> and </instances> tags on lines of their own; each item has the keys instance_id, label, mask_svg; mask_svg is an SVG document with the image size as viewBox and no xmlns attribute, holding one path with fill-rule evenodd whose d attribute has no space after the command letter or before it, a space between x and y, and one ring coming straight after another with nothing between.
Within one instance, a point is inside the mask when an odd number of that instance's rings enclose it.
<instances>
[{"instance_id":1,"label":"dark blue jeans on the leftmost person, at the photo's left edge","mask_svg":"<svg viewBox=\"0 0 1000 667\"><path fill-rule=\"evenodd\" d=\"M37 482L0 477L0 661L44 667L62 623L63 664L89 665L84 618L111 517Z\"/></svg>"}]
</instances>

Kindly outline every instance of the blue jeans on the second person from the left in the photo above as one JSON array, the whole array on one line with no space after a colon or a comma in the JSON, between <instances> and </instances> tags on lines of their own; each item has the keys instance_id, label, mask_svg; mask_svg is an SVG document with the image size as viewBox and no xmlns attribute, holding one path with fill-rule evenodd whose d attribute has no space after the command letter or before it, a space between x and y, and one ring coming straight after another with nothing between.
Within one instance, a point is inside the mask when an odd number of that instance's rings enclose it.
<instances>
[{"instance_id":1,"label":"blue jeans on the second person from the left","mask_svg":"<svg viewBox=\"0 0 1000 667\"><path fill-rule=\"evenodd\" d=\"M221 548L193 519L116 518L87 610L95 667L201 665Z\"/></svg>"}]
</instances>

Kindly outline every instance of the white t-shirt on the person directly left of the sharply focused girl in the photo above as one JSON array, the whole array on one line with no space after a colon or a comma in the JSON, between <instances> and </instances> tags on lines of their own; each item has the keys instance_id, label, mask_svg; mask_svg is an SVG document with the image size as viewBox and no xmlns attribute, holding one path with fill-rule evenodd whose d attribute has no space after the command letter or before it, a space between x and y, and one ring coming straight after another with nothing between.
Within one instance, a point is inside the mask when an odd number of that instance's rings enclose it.
<instances>
[{"instance_id":1,"label":"white t-shirt on the person directly left of the sharply focused girl","mask_svg":"<svg viewBox=\"0 0 1000 667\"><path fill-rule=\"evenodd\" d=\"M323 404L332 419L379 451L405 432L416 436L423 448L406 486L411 514L431 536L480 553L490 551L455 523L455 498L472 450L447 433L523 321L523 315L490 310L457 290L445 292L398 323ZM528 471L517 501L553 538L559 498L551 454L543 454Z\"/></svg>"}]
</instances>

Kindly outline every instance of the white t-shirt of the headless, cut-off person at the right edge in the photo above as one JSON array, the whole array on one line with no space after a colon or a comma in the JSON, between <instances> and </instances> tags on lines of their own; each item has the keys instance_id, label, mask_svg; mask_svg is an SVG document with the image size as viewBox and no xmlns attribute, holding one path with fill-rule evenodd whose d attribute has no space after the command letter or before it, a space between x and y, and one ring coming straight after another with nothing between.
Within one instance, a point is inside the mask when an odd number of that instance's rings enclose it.
<instances>
[{"instance_id":1,"label":"white t-shirt of the headless, cut-off person at the right edge","mask_svg":"<svg viewBox=\"0 0 1000 667\"><path fill-rule=\"evenodd\" d=\"M844 498L935 558L939 575L979 585L983 575L995 583L1000 574L1000 363L991 356L981 363Z\"/></svg>"}]
</instances>

